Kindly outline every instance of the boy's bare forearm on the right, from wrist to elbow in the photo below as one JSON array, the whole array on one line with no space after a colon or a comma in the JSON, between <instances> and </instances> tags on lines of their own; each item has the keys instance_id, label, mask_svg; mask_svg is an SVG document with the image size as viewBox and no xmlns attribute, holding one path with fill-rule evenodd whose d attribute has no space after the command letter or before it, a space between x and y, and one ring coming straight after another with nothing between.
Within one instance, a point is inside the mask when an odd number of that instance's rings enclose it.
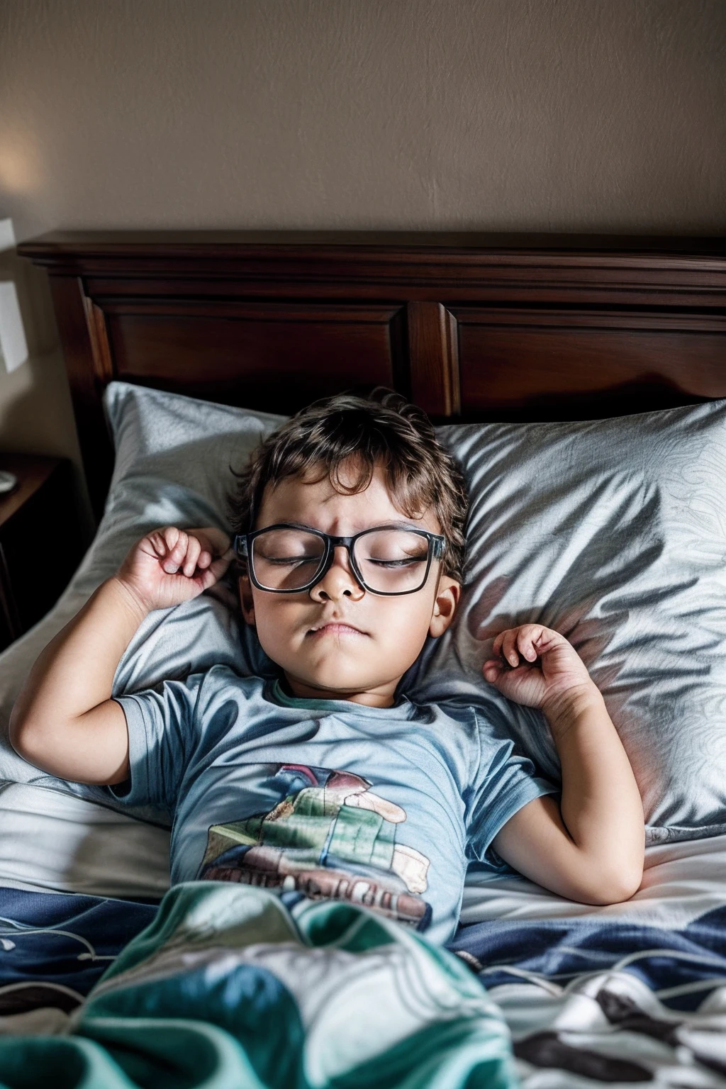
<instances>
[{"instance_id":1,"label":"boy's bare forearm on the right, from wrist to elbow","mask_svg":"<svg viewBox=\"0 0 726 1089\"><path fill-rule=\"evenodd\" d=\"M616 873L627 884L630 876L637 888L644 849L642 802L602 695L593 684L545 713L562 764L562 819L583 867L595 879L599 871Z\"/></svg>"}]
</instances>

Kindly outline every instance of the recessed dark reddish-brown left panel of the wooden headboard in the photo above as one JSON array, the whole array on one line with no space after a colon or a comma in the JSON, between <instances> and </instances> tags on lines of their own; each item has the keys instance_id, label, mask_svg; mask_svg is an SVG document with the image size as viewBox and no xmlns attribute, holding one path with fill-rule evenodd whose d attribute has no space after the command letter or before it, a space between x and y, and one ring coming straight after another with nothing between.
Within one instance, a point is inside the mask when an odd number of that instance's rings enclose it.
<instances>
[{"instance_id":1,"label":"recessed dark reddish-brown left panel of the wooden headboard","mask_svg":"<svg viewBox=\"0 0 726 1089\"><path fill-rule=\"evenodd\" d=\"M185 301L106 315L119 379L290 413L334 389L397 384L399 310Z\"/></svg>"}]
</instances>

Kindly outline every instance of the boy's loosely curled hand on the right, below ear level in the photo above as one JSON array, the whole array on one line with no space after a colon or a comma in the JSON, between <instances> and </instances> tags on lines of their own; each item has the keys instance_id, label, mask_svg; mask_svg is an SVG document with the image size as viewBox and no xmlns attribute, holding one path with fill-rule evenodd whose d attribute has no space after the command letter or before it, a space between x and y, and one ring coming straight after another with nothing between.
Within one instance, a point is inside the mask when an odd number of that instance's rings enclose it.
<instances>
[{"instance_id":1,"label":"boy's loosely curled hand on the right, below ear level","mask_svg":"<svg viewBox=\"0 0 726 1089\"><path fill-rule=\"evenodd\" d=\"M598 693L575 648L550 627L507 628L494 639L493 651L497 657L483 664L485 680L507 699L540 708L550 721Z\"/></svg>"}]
</instances>

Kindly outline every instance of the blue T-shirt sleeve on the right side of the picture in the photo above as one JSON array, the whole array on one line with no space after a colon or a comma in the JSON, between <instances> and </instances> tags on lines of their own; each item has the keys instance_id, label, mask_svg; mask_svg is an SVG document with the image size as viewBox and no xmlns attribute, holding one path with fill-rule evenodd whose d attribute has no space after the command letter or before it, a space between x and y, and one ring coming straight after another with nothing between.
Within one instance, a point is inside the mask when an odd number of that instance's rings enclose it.
<instances>
[{"instance_id":1,"label":"blue T-shirt sleeve on the right side of the picture","mask_svg":"<svg viewBox=\"0 0 726 1089\"><path fill-rule=\"evenodd\" d=\"M479 767L467 799L468 853L484 869L508 871L510 867L491 843L510 817L544 794L559 787L538 775L534 764L514 751L514 742L492 729L473 711L479 735Z\"/></svg>"}]
</instances>

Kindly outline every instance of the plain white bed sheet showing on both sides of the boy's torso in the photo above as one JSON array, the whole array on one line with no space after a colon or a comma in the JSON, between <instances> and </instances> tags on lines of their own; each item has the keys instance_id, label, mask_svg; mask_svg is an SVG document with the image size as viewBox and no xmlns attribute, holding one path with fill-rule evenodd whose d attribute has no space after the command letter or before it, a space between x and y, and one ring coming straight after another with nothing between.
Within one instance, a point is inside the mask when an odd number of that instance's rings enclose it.
<instances>
[{"instance_id":1,"label":"plain white bed sheet showing on both sides of the boy's torso","mask_svg":"<svg viewBox=\"0 0 726 1089\"><path fill-rule=\"evenodd\" d=\"M73 795L0 785L0 885L34 892L161 897L169 832ZM645 851L640 890L623 904L575 904L520 877L470 874L460 921L583 916L679 929L726 906L726 835Z\"/></svg>"}]
</instances>

